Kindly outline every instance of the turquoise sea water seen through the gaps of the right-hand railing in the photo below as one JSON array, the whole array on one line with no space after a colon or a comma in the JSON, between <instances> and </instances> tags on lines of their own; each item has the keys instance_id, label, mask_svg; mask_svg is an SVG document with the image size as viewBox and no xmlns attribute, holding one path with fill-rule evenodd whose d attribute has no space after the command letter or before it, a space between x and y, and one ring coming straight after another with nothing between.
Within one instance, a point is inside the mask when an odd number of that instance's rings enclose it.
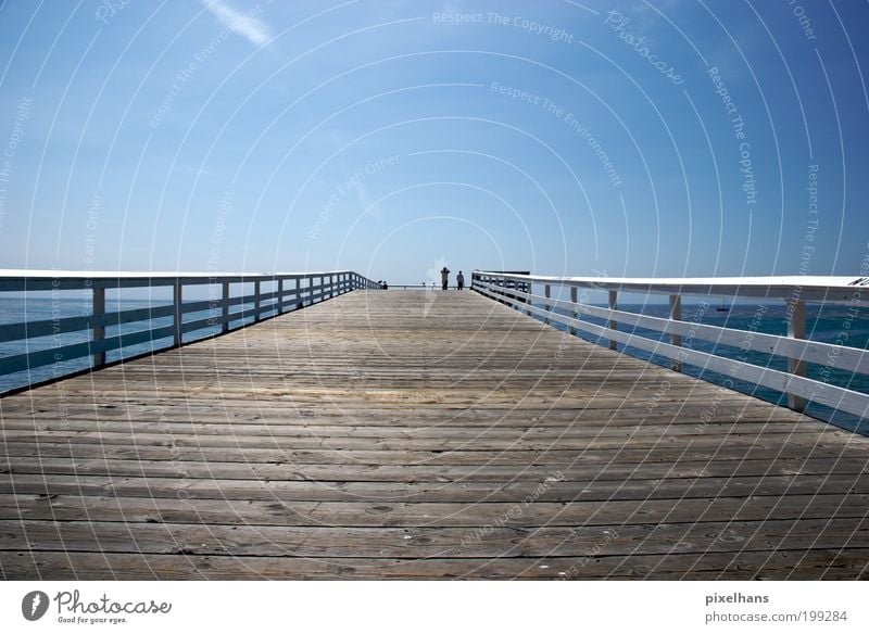
<instances>
[{"instance_id":1,"label":"turquoise sea water seen through the gaps of the right-hand railing","mask_svg":"<svg viewBox=\"0 0 869 634\"><path fill-rule=\"evenodd\" d=\"M683 304L682 305L682 320L689 322L705 324L709 326L719 326L732 328L735 330L766 332L769 334L786 334L788 320L785 315L784 303L763 303L763 304L734 304L729 306L729 310L722 312L718 308L720 304ZM662 304L619 304L619 309L642 313L653 317L667 317L669 307ZM566 312L556 309L557 313L566 314ZM595 318L583 317L587 320L599 326L605 326L604 320ZM559 324L553 324L559 330L567 330L567 327ZM633 328L630 326L619 325L619 330L622 332L630 332L632 334L641 335L655 341L669 342L669 335L662 334L654 330L645 328ZM847 341L845 345L849 347L857 347L867 350L869 347L869 308L867 307L851 307L843 305L828 304L821 305L807 305L806 307L806 338L813 341L823 343L839 343L843 344L842 333L846 333ZM592 343L607 345L607 340L599 341L596 335L588 332L579 332L579 337L591 341ZM701 352L717 354L719 356L736 359L740 362L753 364L760 367L768 367L776 370L786 370L788 362L782 357L776 357L770 354L761 352L745 351L740 347L731 345L716 344L715 342L701 341L694 338L687 341L683 338L684 347L696 350ZM642 358L659 365L663 367L670 367L670 359L660 355L654 355L643 350L635 347L626 347L618 344L618 350L625 351L631 356ZM841 370L834 366L821 366L817 364L807 364L806 375L810 379L824 381L827 383L847 388L855 392L869 393L869 377L865 375L854 373L847 370ZM726 380L728 384L732 383L733 389L744 393L763 398L770 403L779 405L786 404L786 395L776 390L768 388L759 388L753 383L730 379L727 376L706 370L695 366L684 365L682 371L685 375L701 378L717 385L722 385ZM806 408L806 414L814 416L821 420L826 420L848 429L858 431L862 434L869 434L869 420L861 420L856 416L835 411L830 407L809 403Z\"/></svg>"}]
</instances>

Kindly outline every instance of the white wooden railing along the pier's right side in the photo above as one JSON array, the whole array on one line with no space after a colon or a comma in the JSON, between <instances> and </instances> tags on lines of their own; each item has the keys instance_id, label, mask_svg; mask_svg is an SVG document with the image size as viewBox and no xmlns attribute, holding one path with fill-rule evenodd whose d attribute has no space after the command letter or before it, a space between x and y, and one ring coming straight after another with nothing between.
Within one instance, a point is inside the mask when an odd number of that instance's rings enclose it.
<instances>
[{"instance_id":1,"label":"white wooden railing along the pier's right side","mask_svg":"<svg viewBox=\"0 0 869 634\"><path fill-rule=\"evenodd\" d=\"M543 295L533 292L542 287ZM553 287L569 291L570 300L552 297ZM869 304L869 278L855 277L757 277L757 278L579 278L530 275L505 275L474 271L471 289L503 302L546 324L557 321L570 333L583 331L607 340L616 350L620 343L662 355L671 362L673 370L682 364L719 372L732 379L778 390L788 395L792 409L802 411L807 401L839 411L867 418L869 395L806 377L806 364L834 367L839 370L869 373L869 355L861 348L841 344L808 341L806 337L806 303L845 304L854 309ZM582 294L580 295L580 291ZM604 291L608 307L587 303L588 291ZM652 317L618 309L618 293L655 293L669 296L669 317ZM786 306L788 337L766 334L755 330L736 330L683 321L682 297L756 297L783 301ZM564 313L555 312L559 309ZM849 310L851 314L851 310ZM582 320L582 317L603 319L606 326ZM619 332L618 325L640 327L668 334L669 343L635 333ZM849 328L851 324L844 326ZM757 366L744 360L682 346L682 338L739 347L745 352L761 352L788 359L788 371Z\"/></svg>"}]
</instances>

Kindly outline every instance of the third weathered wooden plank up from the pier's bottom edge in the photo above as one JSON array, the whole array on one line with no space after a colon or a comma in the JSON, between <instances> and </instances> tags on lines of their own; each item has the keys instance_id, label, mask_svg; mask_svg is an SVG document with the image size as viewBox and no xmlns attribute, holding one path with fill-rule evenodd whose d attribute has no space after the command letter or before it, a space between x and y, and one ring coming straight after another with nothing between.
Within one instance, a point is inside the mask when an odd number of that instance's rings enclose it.
<instances>
[{"instance_id":1,"label":"third weathered wooden plank up from the pier's bottom edge","mask_svg":"<svg viewBox=\"0 0 869 634\"><path fill-rule=\"evenodd\" d=\"M449 496L439 487L428 486L418 495L411 492L378 491L342 486L326 487L310 500L308 490L288 486L250 486L240 491L249 497L238 495L226 498L197 489L179 490L179 495L152 495L142 497L109 496L109 489L88 492L79 496L68 494L24 495L15 506L14 496L0 496L3 517L14 517L11 522L23 527L24 520L90 521L127 523L203 523L206 525L278 525L278 527L356 527L356 528L579 528L579 527L627 527L656 525L660 523L708 523L725 521L764 521L770 516L786 521L827 521L835 512L835 519L864 520L866 494L842 493L790 494L784 497L757 493L751 497L730 497L732 492L709 498L687 496L685 498L662 497L650 499L601 498L594 495L559 496L558 492L540 495L527 493L520 487L480 494ZM114 492L115 495L134 495L133 491ZM328 494L330 493L330 495ZM546 492L549 493L549 491ZM519 495L525 494L522 497ZM293 498L302 497L299 502ZM454 497L463 502L442 502ZM567 500L564 500L564 498ZM333 502L333 500L342 502ZM557 502L551 502L551 500ZM679 505L673 500L680 499ZM436 500L436 502L427 502ZM486 532L486 531L483 531Z\"/></svg>"}]
</instances>

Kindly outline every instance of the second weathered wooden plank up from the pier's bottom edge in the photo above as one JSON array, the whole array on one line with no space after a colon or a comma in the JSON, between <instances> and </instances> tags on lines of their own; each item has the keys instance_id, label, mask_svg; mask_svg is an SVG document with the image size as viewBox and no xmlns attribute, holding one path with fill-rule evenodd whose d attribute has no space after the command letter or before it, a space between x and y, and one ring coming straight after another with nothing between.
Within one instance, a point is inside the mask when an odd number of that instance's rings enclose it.
<instances>
[{"instance_id":1,"label":"second weathered wooden plank up from the pier's bottom edge","mask_svg":"<svg viewBox=\"0 0 869 634\"><path fill-rule=\"evenodd\" d=\"M461 557L583 557L600 555L705 555L738 548L869 547L869 519L761 520L595 527L452 528L274 527L211 522L0 521L0 551L87 550L156 555L358 557L366 559ZM654 547L650 548L650 541Z\"/></svg>"}]
</instances>

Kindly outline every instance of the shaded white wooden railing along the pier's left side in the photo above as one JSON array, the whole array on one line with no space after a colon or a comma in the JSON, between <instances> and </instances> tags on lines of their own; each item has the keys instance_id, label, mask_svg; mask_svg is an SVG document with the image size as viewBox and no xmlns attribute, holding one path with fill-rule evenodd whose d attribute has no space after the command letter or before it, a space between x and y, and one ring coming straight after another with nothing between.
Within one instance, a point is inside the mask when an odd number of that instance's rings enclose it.
<instances>
[{"instance_id":1,"label":"shaded white wooden railing along the pier's left side","mask_svg":"<svg viewBox=\"0 0 869 634\"><path fill-rule=\"evenodd\" d=\"M275 282L276 290L262 292L262 284L268 282ZM230 284L253 284L253 293L232 295ZM184 300L186 288L203 286L219 290L206 300ZM106 312L106 291L161 288L172 289L172 303ZM349 270L267 275L0 270L0 293L24 293L24 301L30 296L29 293L39 296L39 292L45 291L52 296L63 291L86 291L91 295L89 314L83 316L0 325L0 342L7 344L38 344L40 338L53 338L52 341L60 342L60 335L63 334L89 334L88 340L80 343L50 345L35 352L28 350L0 356L0 376L83 357L90 357L90 367L98 368L105 365L105 353L110 351L172 338L172 344L160 348L166 350L181 345L185 334L190 332L219 327L219 333L225 333L232 329L234 321L238 322L237 326L251 318L252 322L256 322L281 315L288 308L302 308L356 289L377 288L377 282ZM253 308L245 308L247 305L253 305ZM231 310L236 306L240 309ZM185 315L203 312L207 312L209 316L184 320ZM151 320L165 317L172 317L171 325L153 327L151 324ZM106 328L122 325L135 327L137 322L143 325L142 330L118 332L112 337L105 334ZM29 345L26 347L29 348Z\"/></svg>"}]
</instances>

